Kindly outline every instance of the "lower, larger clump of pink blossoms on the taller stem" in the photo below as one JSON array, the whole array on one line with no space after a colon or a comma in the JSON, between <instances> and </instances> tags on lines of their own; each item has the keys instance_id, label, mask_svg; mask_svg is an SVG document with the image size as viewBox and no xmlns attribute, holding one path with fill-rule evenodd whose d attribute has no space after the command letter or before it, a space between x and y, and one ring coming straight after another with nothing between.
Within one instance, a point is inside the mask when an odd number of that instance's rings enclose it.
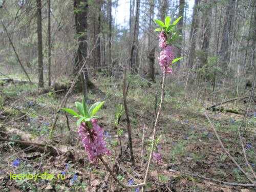
<instances>
[{"instance_id":1,"label":"lower, larger clump of pink blossoms on the taller stem","mask_svg":"<svg viewBox=\"0 0 256 192\"><path fill-rule=\"evenodd\" d=\"M173 47L170 45L167 45L160 52L160 57L158 57L159 65L165 73L173 73L172 68L169 67L172 64L173 59L174 59Z\"/></svg>"}]
</instances>

